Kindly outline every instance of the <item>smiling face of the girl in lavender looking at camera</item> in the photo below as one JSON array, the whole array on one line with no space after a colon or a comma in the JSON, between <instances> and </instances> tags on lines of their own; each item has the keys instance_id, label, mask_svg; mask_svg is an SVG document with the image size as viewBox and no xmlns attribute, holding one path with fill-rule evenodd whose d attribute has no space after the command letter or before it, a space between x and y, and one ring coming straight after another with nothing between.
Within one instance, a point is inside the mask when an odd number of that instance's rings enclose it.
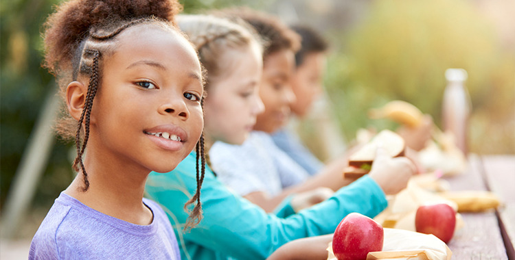
<instances>
[{"instance_id":1,"label":"smiling face of the girl in lavender looking at camera","mask_svg":"<svg viewBox=\"0 0 515 260\"><path fill-rule=\"evenodd\" d=\"M174 31L135 25L117 36L101 65L91 111L95 148L88 153L125 167L173 170L203 129L201 65L193 47Z\"/></svg>"}]
</instances>

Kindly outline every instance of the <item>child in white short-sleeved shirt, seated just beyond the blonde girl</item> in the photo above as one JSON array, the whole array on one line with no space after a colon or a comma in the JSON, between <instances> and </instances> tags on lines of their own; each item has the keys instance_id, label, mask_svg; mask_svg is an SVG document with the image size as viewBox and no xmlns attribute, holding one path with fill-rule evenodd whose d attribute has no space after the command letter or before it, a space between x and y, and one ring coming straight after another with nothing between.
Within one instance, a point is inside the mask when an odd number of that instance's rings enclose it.
<instances>
[{"instance_id":1,"label":"child in white short-sleeved shirt, seated just beyond the blonde girl","mask_svg":"<svg viewBox=\"0 0 515 260\"><path fill-rule=\"evenodd\" d=\"M352 180L342 177L347 160L335 160L310 177L271 139L271 133L284 127L290 115L290 106L296 100L290 81L295 72L294 55L300 40L298 35L277 18L257 12L238 9L226 11L225 15L240 17L251 23L260 36L269 39L271 44L264 53L260 86L265 112L258 116L254 127L256 131L241 146L218 142L211 148L211 163L220 180L267 212L273 211L290 194L310 190L317 192L315 189L322 187L336 191L350 183ZM411 172L412 169L407 166L402 170ZM237 183L233 181L235 179ZM329 193L325 192L325 195Z\"/></svg>"}]
</instances>

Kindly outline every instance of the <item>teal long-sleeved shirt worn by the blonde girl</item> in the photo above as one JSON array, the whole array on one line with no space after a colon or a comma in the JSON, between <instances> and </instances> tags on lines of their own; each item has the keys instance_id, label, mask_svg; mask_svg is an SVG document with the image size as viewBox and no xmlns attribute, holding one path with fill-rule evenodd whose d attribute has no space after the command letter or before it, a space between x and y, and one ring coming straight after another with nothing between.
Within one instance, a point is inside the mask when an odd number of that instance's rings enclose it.
<instances>
[{"instance_id":1,"label":"teal long-sleeved shirt worn by the blonde girl","mask_svg":"<svg viewBox=\"0 0 515 260\"><path fill-rule=\"evenodd\" d=\"M183 260L266 259L292 240L334 233L348 213L373 218L387 207L381 188L365 176L298 213L288 199L276 213L266 213L231 192L206 166L201 189L203 220L190 233L183 233L188 216L183 207L196 190L195 164L195 153L191 153L172 172L151 172L146 183L146 196L163 207L174 226Z\"/></svg>"}]
</instances>

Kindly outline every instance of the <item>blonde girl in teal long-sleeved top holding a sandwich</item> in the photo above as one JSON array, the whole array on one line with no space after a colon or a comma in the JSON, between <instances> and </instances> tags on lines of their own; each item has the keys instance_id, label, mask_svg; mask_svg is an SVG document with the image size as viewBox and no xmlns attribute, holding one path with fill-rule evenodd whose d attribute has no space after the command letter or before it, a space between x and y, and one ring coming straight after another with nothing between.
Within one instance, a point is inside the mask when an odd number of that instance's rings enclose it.
<instances>
[{"instance_id":1,"label":"blonde girl in teal long-sleeved top holding a sandwich","mask_svg":"<svg viewBox=\"0 0 515 260\"><path fill-rule=\"evenodd\" d=\"M179 27L194 42L207 69L204 133L207 147L220 140L240 144L262 110L258 96L262 55L258 42L241 25L212 16L183 16ZM215 118L218 120L212 120ZM198 176L194 170L198 153L190 154L170 174L152 172L146 192L163 205L178 231L183 259L263 260L288 242L293 241L278 254L305 242L295 239L333 233L348 213L374 217L385 209L385 193L393 194L405 187L411 172L403 170L409 161L391 159L383 152L379 151L374 163L380 167L374 168L369 176L299 213L295 213L291 198L284 200L275 213L266 213L227 189L209 165L205 174ZM195 194L197 178L203 180L204 217L196 228L182 233L187 221L183 205Z\"/></svg>"}]
</instances>

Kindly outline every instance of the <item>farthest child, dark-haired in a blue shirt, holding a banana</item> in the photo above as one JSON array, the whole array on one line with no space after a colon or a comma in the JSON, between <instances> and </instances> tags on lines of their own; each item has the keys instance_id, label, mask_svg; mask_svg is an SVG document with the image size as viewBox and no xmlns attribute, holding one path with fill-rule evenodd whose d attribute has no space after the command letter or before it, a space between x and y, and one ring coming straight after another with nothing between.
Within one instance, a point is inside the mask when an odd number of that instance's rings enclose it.
<instances>
[{"instance_id":1,"label":"farthest child, dark-haired in a blue shirt, holding a banana","mask_svg":"<svg viewBox=\"0 0 515 260\"><path fill-rule=\"evenodd\" d=\"M328 43L311 27L293 25L290 28L302 39L301 49L295 53L296 68L291 81L296 99L290 105L292 117L302 120L310 114L314 101L323 93L323 75ZM431 139L433 127L431 116L426 115L424 123L420 127L400 127L398 133L402 135L409 148L420 151L424 144ZM272 138L275 145L302 166L308 174L313 175L324 167L324 164L302 144L295 129L284 127L275 131ZM411 154L413 151L409 151L409 155ZM347 161L347 155L348 152L330 164L344 165L343 162Z\"/></svg>"}]
</instances>

